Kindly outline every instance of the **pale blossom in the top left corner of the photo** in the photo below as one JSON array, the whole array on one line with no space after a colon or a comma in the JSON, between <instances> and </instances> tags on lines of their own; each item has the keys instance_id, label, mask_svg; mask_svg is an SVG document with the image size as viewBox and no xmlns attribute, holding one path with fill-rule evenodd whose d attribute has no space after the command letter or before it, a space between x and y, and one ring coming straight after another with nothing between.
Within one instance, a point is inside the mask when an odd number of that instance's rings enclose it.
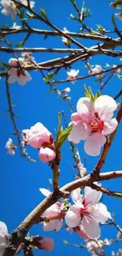
<instances>
[{"instance_id":1,"label":"pale blossom in the top left corner of the photo","mask_svg":"<svg viewBox=\"0 0 122 256\"><path fill-rule=\"evenodd\" d=\"M14 4L14 2L11 0L2 0L0 3L3 7L2 14L6 15L6 16L10 15L11 18L13 20L15 20L16 15L17 15L17 9L16 9L16 5Z\"/></svg>"}]
</instances>

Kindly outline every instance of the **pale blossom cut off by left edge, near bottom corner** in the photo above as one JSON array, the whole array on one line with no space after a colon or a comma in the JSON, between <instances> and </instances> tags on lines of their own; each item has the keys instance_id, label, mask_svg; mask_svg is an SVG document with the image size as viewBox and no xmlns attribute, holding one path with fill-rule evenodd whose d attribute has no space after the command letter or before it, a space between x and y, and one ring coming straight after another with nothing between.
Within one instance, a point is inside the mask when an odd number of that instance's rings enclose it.
<instances>
[{"instance_id":1,"label":"pale blossom cut off by left edge, near bottom corner","mask_svg":"<svg viewBox=\"0 0 122 256\"><path fill-rule=\"evenodd\" d=\"M8 228L4 222L0 221L0 255L2 254L2 250L6 246L7 236L9 236Z\"/></svg>"}]
</instances>

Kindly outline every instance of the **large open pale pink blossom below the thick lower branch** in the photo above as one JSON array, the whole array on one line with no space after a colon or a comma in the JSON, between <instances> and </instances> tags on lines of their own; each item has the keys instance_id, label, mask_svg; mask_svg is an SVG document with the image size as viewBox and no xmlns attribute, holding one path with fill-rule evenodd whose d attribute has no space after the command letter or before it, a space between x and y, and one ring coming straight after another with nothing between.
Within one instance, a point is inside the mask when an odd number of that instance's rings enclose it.
<instances>
[{"instance_id":1,"label":"large open pale pink blossom below the thick lower branch","mask_svg":"<svg viewBox=\"0 0 122 256\"><path fill-rule=\"evenodd\" d=\"M98 239L101 234L99 222L105 224L111 218L106 206L99 202L102 192L85 187L83 198L80 188L77 188L71 196L74 204L65 215L66 224L70 228L79 227L91 239Z\"/></svg>"}]
</instances>

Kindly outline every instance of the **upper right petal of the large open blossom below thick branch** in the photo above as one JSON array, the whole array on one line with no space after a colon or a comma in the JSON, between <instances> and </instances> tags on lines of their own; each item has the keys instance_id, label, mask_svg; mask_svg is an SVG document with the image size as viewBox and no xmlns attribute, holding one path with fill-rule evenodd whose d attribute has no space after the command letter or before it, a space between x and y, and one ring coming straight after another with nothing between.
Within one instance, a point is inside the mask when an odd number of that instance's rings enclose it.
<instances>
[{"instance_id":1,"label":"upper right petal of the large open blossom below thick branch","mask_svg":"<svg viewBox=\"0 0 122 256\"><path fill-rule=\"evenodd\" d=\"M97 203L102 197L101 191L96 191L91 187L85 187L84 193L85 205Z\"/></svg>"}]
</instances>

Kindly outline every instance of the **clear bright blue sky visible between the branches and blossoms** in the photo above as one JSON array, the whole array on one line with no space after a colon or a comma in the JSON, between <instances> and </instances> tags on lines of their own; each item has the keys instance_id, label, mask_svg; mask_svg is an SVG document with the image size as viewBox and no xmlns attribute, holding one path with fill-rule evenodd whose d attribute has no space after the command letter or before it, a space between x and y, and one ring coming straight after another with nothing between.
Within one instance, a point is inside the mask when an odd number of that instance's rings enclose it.
<instances>
[{"instance_id":1,"label":"clear bright blue sky visible between the branches and blossoms","mask_svg":"<svg viewBox=\"0 0 122 256\"><path fill-rule=\"evenodd\" d=\"M77 1L78 5L82 5L82 1ZM114 9L109 8L109 1L91 1L87 0L86 5L91 8L93 16L91 19L87 19L87 24L91 28L95 29L96 24L102 24L107 30L113 29L111 24L111 15L115 12ZM69 19L70 13L75 14L72 9L72 5L67 0L46 0L46 1L35 1L35 10L39 11L39 6L46 9L46 13L54 24L58 28L63 29L66 27L71 32L79 32L79 24L75 21ZM1 25L6 23L9 26L13 26L13 22L10 17L4 17L0 15L2 20ZM121 28L120 21L117 21ZM41 22L32 21L31 25L35 28L47 29L45 24ZM9 37L9 40L15 46L17 43L24 38L24 35L17 35ZM91 41L82 40L84 45L93 45ZM94 42L95 44L96 42ZM28 43L25 46L47 46L47 47L63 47L60 38L49 37L44 40L41 35L32 35ZM20 56L18 54L18 56ZM52 58L57 58L61 56L60 54L35 54L36 61L45 61ZM11 54L1 54L2 61L9 61ZM107 58L105 56L98 56L91 58L91 65L102 65L105 67L105 63L108 62L110 65L119 63L117 58ZM84 68L84 63L79 61L79 63L72 66L72 68L79 69L79 75L84 76L87 74L87 69ZM31 72L32 80L28 82L24 87L21 87L17 83L10 84L10 91L13 95L13 104L17 104L15 112L18 115L17 127L22 130L24 128L29 128L36 122L42 122L53 134L55 135L55 128L57 127L57 113L61 110L65 110L67 121L70 121L70 109L67 102L57 98L57 95L53 93L49 95L49 87L43 82L42 76L39 72ZM59 73L59 79L65 79L66 71L63 70ZM94 83L94 79L89 79L86 81L78 81L74 85L71 83L64 83L58 86L60 90L65 87L71 87L70 96L72 97L72 104L76 106L76 102L79 97L83 95L83 84L93 88L94 93L98 90L98 83ZM116 95L121 88L121 80L116 77L111 80L103 94ZM13 228L16 228L20 221L24 220L24 217L30 213L31 210L43 200L43 195L39 192L39 187L51 188L48 179L52 177L52 172L47 164L43 164L38 159L36 150L28 147L28 152L31 154L32 158L37 159L37 163L31 163L26 161L24 158L20 157L19 150L16 151L15 157L11 157L6 154L6 141L9 137L13 139L16 143L16 138L13 133L13 125L6 114L6 109L8 108L6 99L6 86L5 80L1 80L0 87L0 120L1 120L1 139L0 139L0 162L1 162L1 175L0 175L0 190L1 190L1 210L0 210L0 220L6 222L9 232L12 232ZM109 155L106 159L105 165L102 168L102 172L107 172L110 170L121 169L121 128L118 129L116 138L114 139L113 146L109 150ZM98 158L87 157L83 151L83 143L78 145L79 152L81 154L81 159L84 162L86 159L87 173L90 173L93 169ZM73 180L74 170L72 169L73 160L72 153L69 150L68 142L62 147L63 158L61 160L61 176L60 185ZM121 180L111 180L102 183L104 187L108 187L113 191L121 191ZM111 198L109 196L104 196L103 202L107 205L110 212L114 212L115 220L120 226L122 226L121 213L122 213L122 201L121 199ZM82 253L87 256L86 250L80 251L76 247L65 247L63 244L63 239L68 240L70 243L83 243L83 240L79 238L76 234L70 235L65 231L65 226L60 232L43 232L41 225L35 225L31 228L31 235L39 236L51 236L55 239L54 250L50 253L51 255L62 255L70 254L76 255ZM112 226L102 227L102 239L109 237L116 237L116 229ZM113 250L121 247L121 243L115 244ZM110 255L110 248L105 249L107 255ZM35 251L35 255L46 255L48 253L44 251Z\"/></svg>"}]
</instances>

